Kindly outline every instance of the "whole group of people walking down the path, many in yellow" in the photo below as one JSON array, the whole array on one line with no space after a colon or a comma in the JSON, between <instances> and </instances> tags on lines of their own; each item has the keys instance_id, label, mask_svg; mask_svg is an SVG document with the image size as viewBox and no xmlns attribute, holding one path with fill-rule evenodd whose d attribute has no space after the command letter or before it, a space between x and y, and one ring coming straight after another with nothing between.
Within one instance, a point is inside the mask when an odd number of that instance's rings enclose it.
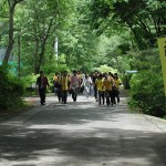
<instances>
[{"instance_id":1,"label":"whole group of people walking down the path, many in yellow","mask_svg":"<svg viewBox=\"0 0 166 166\"><path fill-rule=\"evenodd\" d=\"M39 86L39 94L41 105L45 104L45 91L49 85L46 76L43 71L40 72L40 76L37 79L37 85ZM73 102L76 102L77 94L83 93L86 97L94 96L98 104L113 105L120 103L120 85L121 80L117 73L81 73L80 71L73 71L69 74L68 71L55 73L53 76L54 92L58 95L58 100L62 104L66 104L68 94L72 95Z\"/></svg>"}]
</instances>

